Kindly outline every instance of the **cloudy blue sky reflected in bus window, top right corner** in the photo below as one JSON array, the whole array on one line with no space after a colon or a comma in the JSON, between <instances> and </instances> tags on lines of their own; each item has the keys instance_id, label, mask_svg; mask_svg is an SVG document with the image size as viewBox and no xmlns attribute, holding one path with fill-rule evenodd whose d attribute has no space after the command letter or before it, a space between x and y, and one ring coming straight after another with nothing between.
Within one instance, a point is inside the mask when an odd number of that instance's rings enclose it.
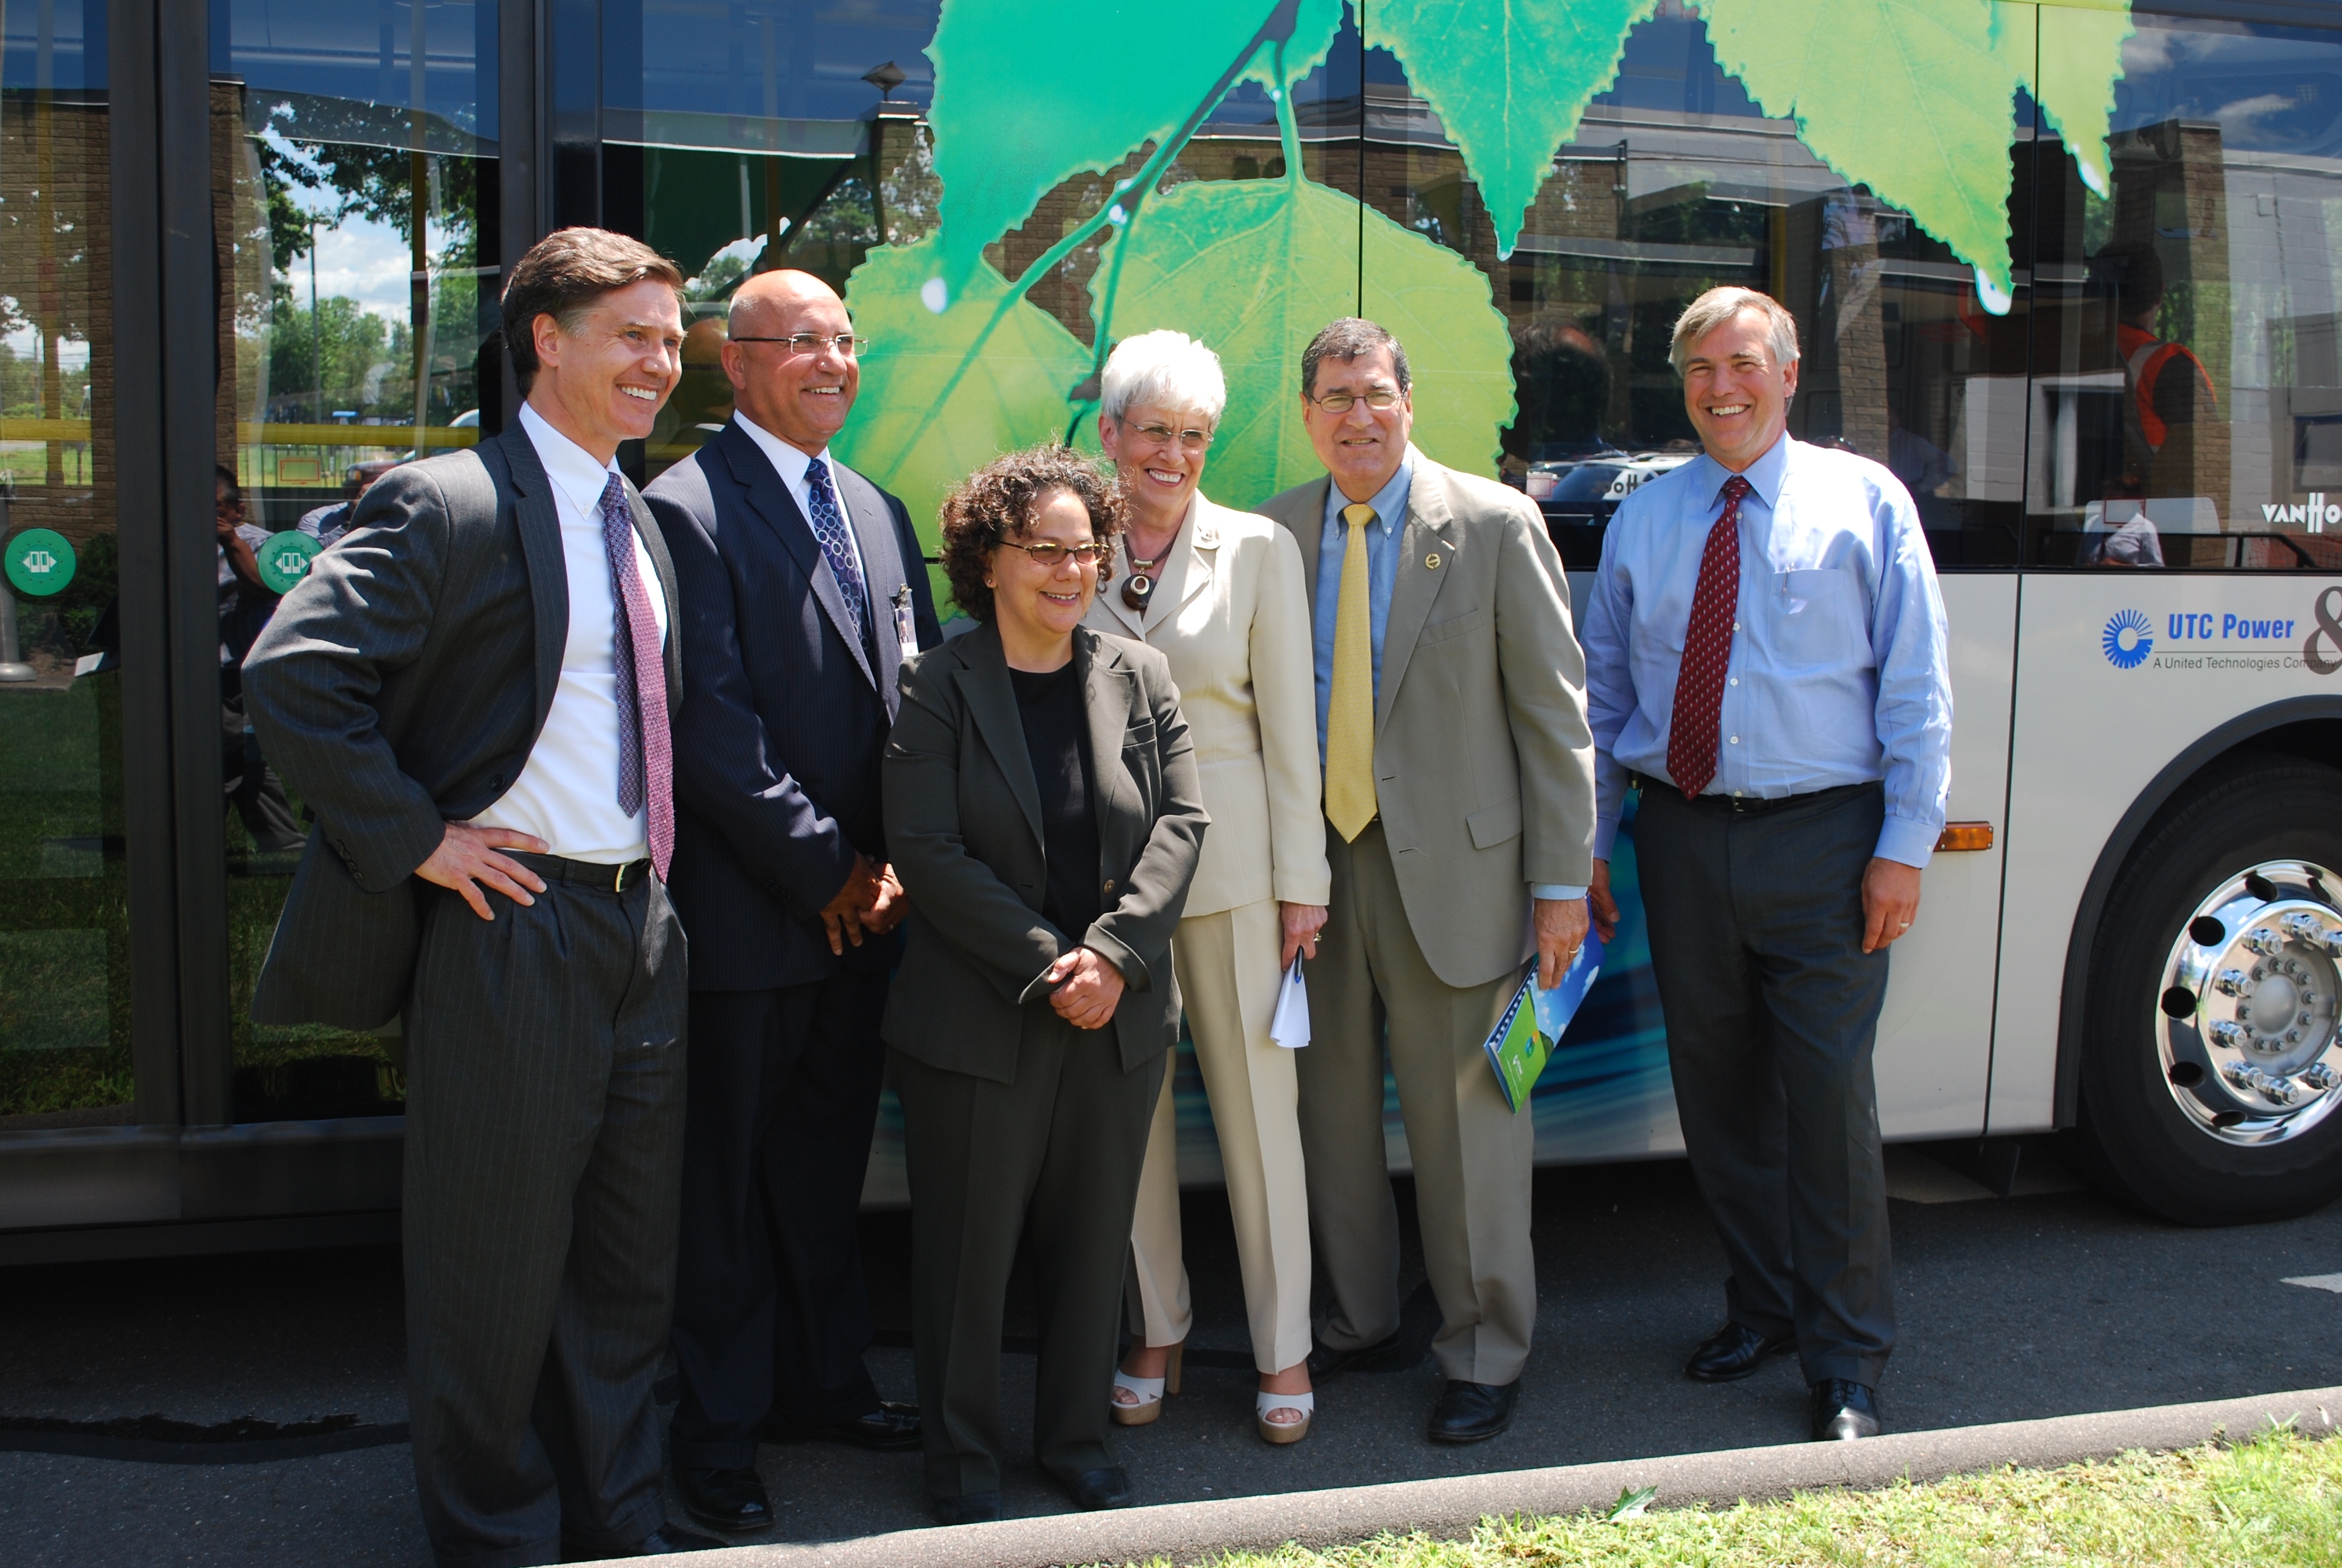
<instances>
[{"instance_id":1,"label":"cloudy blue sky reflected in bus window, top right corner","mask_svg":"<svg viewBox=\"0 0 2342 1568\"><path fill-rule=\"evenodd\" d=\"M2166 120L2218 122L2230 150L2342 155L2342 45L2307 28L2138 16L2112 124Z\"/></svg>"}]
</instances>

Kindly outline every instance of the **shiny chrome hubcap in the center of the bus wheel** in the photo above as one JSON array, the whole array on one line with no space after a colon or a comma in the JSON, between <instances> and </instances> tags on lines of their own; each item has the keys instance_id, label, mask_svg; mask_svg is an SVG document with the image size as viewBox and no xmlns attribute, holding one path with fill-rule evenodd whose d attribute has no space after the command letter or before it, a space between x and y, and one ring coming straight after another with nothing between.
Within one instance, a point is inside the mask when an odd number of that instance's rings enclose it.
<instances>
[{"instance_id":1,"label":"shiny chrome hubcap in the center of the bus wheel","mask_svg":"<svg viewBox=\"0 0 2342 1568\"><path fill-rule=\"evenodd\" d=\"M2342 1104L2342 877L2269 860L2213 888L2164 961L2164 1085L2223 1144L2300 1137Z\"/></svg>"}]
</instances>

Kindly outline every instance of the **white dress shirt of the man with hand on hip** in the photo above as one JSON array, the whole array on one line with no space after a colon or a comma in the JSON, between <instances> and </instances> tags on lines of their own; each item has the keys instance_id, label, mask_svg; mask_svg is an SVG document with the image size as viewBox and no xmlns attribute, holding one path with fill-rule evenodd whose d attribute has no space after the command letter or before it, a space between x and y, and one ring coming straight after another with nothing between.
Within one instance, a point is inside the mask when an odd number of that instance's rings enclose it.
<instances>
[{"instance_id":1,"label":"white dress shirt of the man with hand on hip","mask_svg":"<svg viewBox=\"0 0 2342 1568\"><path fill-rule=\"evenodd\" d=\"M562 520L562 565L569 570L569 640L562 645L562 682L553 710L536 736L520 778L494 806L471 818L473 827L513 827L536 834L548 853L595 865L625 865L651 853L649 813L618 809L618 600L609 581L602 544L602 490L618 464L600 464L578 443L553 429L527 403L520 429L553 480L553 506ZM658 638L667 638L667 595L658 586L651 553L635 534L635 577L651 598ZM656 673L658 680L665 670Z\"/></svg>"}]
</instances>

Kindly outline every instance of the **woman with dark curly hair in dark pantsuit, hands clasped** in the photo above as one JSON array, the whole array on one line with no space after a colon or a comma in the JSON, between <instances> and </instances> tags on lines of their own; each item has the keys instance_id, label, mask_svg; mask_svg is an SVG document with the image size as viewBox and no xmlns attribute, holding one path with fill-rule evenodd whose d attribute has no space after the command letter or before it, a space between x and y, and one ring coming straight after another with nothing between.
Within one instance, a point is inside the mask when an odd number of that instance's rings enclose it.
<instances>
[{"instance_id":1,"label":"woman with dark curly hair in dark pantsuit, hands clasped","mask_svg":"<svg viewBox=\"0 0 2342 1568\"><path fill-rule=\"evenodd\" d=\"M1134 1500L1105 1451L1115 1308L1206 816L1164 656L1082 626L1119 532L1122 492L1066 448L1009 452L953 490L944 574L979 626L902 666L888 741L911 945L885 1041L941 1523L1000 1516L1019 1238L1040 1294L1035 1458L1080 1507Z\"/></svg>"}]
</instances>

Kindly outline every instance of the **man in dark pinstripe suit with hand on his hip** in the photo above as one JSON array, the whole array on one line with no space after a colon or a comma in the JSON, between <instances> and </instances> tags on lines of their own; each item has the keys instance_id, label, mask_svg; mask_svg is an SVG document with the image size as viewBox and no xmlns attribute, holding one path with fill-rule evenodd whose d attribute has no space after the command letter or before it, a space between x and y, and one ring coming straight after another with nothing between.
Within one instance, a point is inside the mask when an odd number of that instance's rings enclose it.
<instances>
[{"instance_id":1,"label":"man in dark pinstripe suit with hand on his hip","mask_svg":"<svg viewBox=\"0 0 2342 1568\"><path fill-rule=\"evenodd\" d=\"M611 462L674 389L674 265L602 230L504 291L518 422L400 466L246 661L316 809L255 1022L405 1015L408 1411L445 1568L714 1545L651 1380L684 1132L677 586Z\"/></svg>"}]
</instances>

